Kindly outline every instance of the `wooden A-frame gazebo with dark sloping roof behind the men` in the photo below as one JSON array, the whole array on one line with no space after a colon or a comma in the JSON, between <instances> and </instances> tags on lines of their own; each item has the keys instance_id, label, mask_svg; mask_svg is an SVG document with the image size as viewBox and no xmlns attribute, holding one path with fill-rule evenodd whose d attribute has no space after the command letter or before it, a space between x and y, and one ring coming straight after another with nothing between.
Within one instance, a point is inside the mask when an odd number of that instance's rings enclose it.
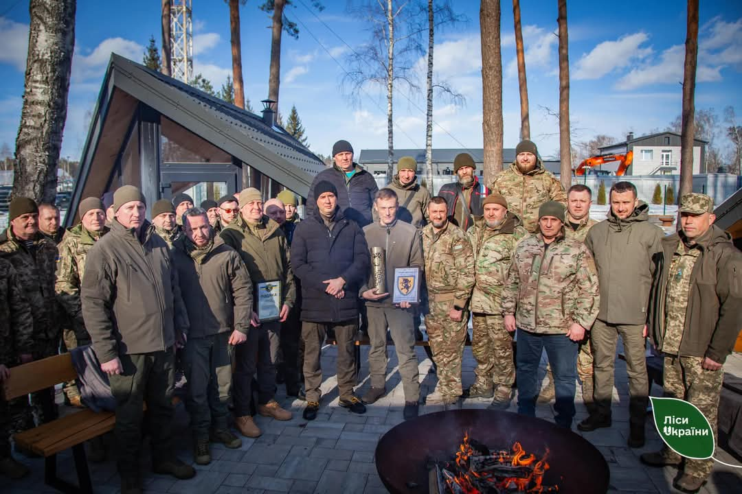
<instances>
[{"instance_id":1,"label":"wooden A-frame gazebo with dark sloping roof behind the men","mask_svg":"<svg viewBox=\"0 0 742 494\"><path fill-rule=\"evenodd\" d=\"M82 198L131 184L148 206L189 193L196 204L244 187L306 197L325 166L275 123L141 64L111 55L82 150L66 226Z\"/></svg>"}]
</instances>

